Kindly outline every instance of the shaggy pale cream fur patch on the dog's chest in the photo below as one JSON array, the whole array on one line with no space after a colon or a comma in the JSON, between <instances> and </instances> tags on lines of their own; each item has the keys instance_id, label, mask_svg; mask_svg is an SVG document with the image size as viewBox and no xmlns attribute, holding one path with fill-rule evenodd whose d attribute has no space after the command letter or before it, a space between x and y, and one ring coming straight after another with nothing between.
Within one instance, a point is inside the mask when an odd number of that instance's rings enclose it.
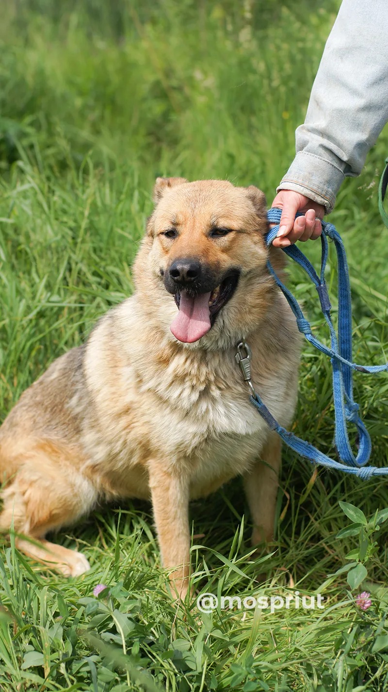
<instances>
[{"instance_id":1,"label":"shaggy pale cream fur patch on the dog's chest","mask_svg":"<svg viewBox=\"0 0 388 692\"><path fill-rule=\"evenodd\" d=\"M246 471L268 431L231 354L223 362L217 354L207 354L213 367L193 355L174 358L160 381L152 376L143 387L164 404L154 419L156 445L169 464L186 466L192 494L201 495L207 484Z\"/></svg>"}]
</instances>

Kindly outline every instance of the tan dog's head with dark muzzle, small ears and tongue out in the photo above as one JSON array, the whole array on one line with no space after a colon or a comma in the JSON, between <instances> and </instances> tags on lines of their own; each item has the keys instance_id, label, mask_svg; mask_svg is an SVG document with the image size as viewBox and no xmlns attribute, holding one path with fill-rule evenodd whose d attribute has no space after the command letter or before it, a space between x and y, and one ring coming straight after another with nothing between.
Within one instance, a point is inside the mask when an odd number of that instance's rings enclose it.
<instances>
[{"instance_id":1,"label":"tan dog's head with dark muzzle, small ears and tongue out","mask_svg":"<svg viewBox=\"0 0 388 692\"><path fill-rule=\"evenodd\" d=\"M154 201L135 264L151 322L203 347L257 329L273 293L264 194L228 181L158 178Z\"/></svg>"}]
</instances>

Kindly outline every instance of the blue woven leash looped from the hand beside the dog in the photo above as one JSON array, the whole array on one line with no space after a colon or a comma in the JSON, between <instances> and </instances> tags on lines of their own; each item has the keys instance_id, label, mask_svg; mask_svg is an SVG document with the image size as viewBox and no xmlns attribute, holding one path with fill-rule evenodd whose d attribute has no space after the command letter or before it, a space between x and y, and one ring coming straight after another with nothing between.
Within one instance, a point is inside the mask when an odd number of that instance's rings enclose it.
<instances>
[{"instance_id":1,"label":"blue woven leash looped from the hand beside the dog","mask_svg":"<svg viewBox=\"0 0 388 692\"><path fill-rule=\"evenodd\" d=\"M298 216L302 215L298 214ZM280 209L272 208L268 211L269 223L277 224L277 226L271 228L271 230L268 232L266 236L267 246L270 246L272 241L277 236L280 217ZM286 296L288 304L297 320L297 327L299 331L304 334L310 343L312 343L315 347L317 347L317 349L326 354L326 356L329 356L331 359L331 365L333 367L333 397L335 409L335 445L337 447L338 456L340 457L342 463L334 461L334 459L331 459L326 454L320 452L320 450L315 448L312 444L300 439L300 437L294 435L293 432L288 432L288 430L282 428L272 416L263 401L261 401L257 392L254 392L254 395L251 395L250 400L259 411L259 414L264 418L270 429L276 430L281 439L283 439L286 444L288 444L288 446L299 455L309 459L315 464L322 464L322 466L326 466L326 468L335 468L338 471L352 473L353 475L357 475L360 478L367 480L373 475L387 475L388 468L365 466L371 455L371 438L369 437L367 428L365 428L360 416L358 415L358 404L353 400L353 370L369 373L383 372L388 371L388 363L385 365L356 365L351 361L351 293L347 255L345 253L342 239L339 233L337 233L337 230L335 230L333 224L328 224L326 221L322 221L322 229L322 258L319 276L317 275L311 262L307 259L307 257L305 257L305 255L296 245L290 245L283 249L286 255L292 257L292 259L295 260L295 262L297 262L297 264L299 264L304 271L306 271L307 275L315 284L315 288L317 289L317 293L320 298L322 313L324 314L324 318L330 329L330 348L326 347L320 340L313 336L310 322L308 322L308 320L306 320L304 317L302 309L300 308L296 298L281 282L270 262L267 263L267 267L275 282L279 286L279 289L281 289ZM324 270L329 253L328 238L334 242L338 259L338 336L335 334L335 329L331 320L331 304L326 282L324 280ZM250 386L252 391L252 385ZM358 430L358 453L356 456L353 454L351 449L347 430L347 421L355 424Z\"/></svg>"}]
</instances>

